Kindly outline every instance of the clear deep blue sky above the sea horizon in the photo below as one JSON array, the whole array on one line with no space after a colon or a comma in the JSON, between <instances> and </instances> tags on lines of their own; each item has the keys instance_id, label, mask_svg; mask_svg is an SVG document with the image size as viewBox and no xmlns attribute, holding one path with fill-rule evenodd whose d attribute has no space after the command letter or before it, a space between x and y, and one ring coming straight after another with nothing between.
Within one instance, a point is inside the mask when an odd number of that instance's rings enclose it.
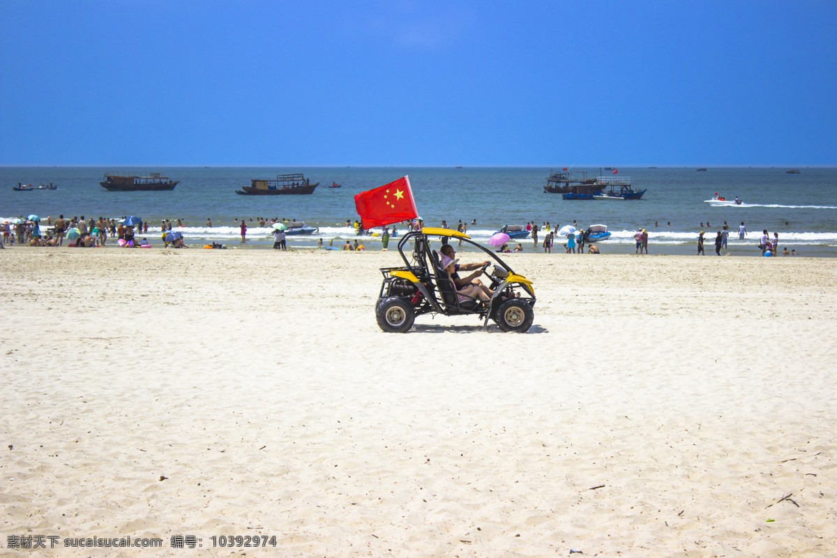
<instances>
[{"instance_id":1,"label":"clear deep blue sky above the sea horizon","mask_svg":"<svg viewBox=\"0 0 837 558\"><path fill-rule=\"evenodd\" d=\"M837 2L0 0L3 165L834 165Z\"/></svg>"}]
</instances>

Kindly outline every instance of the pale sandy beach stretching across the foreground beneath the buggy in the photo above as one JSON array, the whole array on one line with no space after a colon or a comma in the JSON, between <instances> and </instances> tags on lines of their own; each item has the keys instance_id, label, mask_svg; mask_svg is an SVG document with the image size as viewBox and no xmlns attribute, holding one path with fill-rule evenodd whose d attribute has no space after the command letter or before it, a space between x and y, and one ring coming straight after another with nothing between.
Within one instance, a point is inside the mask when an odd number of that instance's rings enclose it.
<instances>
[{"instance_id":1,"label":"pale sandy beach stretching across the foreground beneath the buggy","mask_svg":"<svg viewBox=\"0 0 837 558\"><path fill-rule=\"evenodd\" d=\"M834 259L512 254L526 334L385 334L399 261L0 252L2 554L837 554Z\"/></svg>"}]
</instances>

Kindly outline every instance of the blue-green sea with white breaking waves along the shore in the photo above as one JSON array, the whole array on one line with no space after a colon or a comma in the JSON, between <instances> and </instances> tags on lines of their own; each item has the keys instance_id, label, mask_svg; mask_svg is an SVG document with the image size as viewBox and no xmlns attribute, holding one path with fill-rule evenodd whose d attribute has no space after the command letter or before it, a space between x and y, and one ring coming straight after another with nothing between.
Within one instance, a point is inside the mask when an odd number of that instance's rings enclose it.
<instances>
[{"instance_id":1,"label":"blue-green sea with white breaking waves along the shore","mask_svg":"<svg viewBox=\"0 0 837 558\"><path fill-rule=\"evenodd\" d=\"M553 170L560 170L561 166ZM612 176L598 167L586 170L588 177ZM187 244L210 241L229 248L272 246L270 228L255 220L286 218L318 227L311 237L289 237L289 247L313 247L319 238L341 246L357 238L346 227L358 218L354 195L408 175L413 196L426 226L438 227L446 220L456 228L461 220L468 233L485 243L505 224L535 222L552 227L577 223L579 227L602 223L612 237L599 243L603 253L634 253L637 228L649 232L650 253L695 253L697 234L706 232L706 253L714 252L716 231L726 222L730 230L728 252L760 255L756 248L763 229L779 235L779 246L807 256L837 256L837 168L799 167L619 167L619 177L631 177L636 189L647 189L636 201L567 201L560 194L545 193L548 167L0 167L0 223L35 213L44 219L84 215L85 218L121 218L135 215L149 223L148 238L159 243L162 219L181 219ZM171 192L109 192L100 187L105 171L147 176L160 172L180 183ZM303 196L239 196L236 189L249 186L250 178L273 178L277 174L303 172L320 186ZM18 182L36 187L52 182L56 190L14 192ZM340 188L327 187L331 182ZM705 200L713 194L739 197L735 207L712 207ZM213 223L206 226L207 219ZM234 219L246 218L247 243L240 243ZM470 224L472 221L476 224ZM747 238L739 241L739 223L745 223ZM152 234L153 233L153 234ZM542 238L540 233L539 238ZM360 242L379 249L377 237ZM516 241L527 251L532 240ZM562 251L556 240L553 251ZM393 245L390 245L393 248ZM542 249L542 248L539 248Z\"/></svg>"}]
</instances>

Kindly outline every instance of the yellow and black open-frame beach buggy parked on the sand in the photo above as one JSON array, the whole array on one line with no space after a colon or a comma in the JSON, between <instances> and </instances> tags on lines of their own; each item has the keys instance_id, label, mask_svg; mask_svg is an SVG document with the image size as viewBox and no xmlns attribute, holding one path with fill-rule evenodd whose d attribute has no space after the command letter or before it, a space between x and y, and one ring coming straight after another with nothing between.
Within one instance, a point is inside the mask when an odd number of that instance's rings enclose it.
<instances>
[{"instance_id":1,"label":"yellow and black open-frame beach buggy parked on the sand","mask_svg":"<svg viewBox=\"0 0 837 558\"><path fill-rule=\"evenodd\" d=\"M441 268L441 255L430 247L428 237L461 239L495 260L482 268L488 279L486 286L494 291L489 300L457 293L456 286ZM412 249L407 254L405 249ZM424 228L407 233L398 243L404 260L399 268L382 268L383 284L376 305L377 325L382 330L403 333L413 326L416 316L423 314L476 315L488 325L496 321L503 331L526 331L535 317L535 289L531 281L518 275L496 253L475 243L465 233L447 228Z\"/></svg>"}]
</instances>

